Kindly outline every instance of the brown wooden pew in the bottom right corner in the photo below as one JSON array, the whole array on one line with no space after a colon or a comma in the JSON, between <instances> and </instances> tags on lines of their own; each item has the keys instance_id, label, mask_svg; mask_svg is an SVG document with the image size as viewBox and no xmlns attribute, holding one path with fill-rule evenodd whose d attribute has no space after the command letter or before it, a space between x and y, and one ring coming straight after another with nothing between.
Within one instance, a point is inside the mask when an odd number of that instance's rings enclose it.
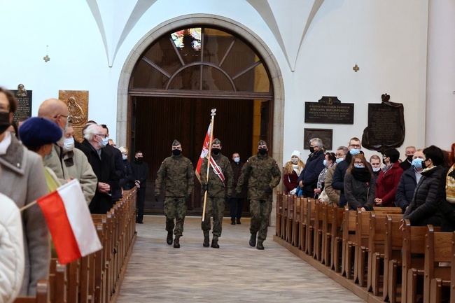
<instances>
[{"instance_id":1,"label":"brown wooden pew in the bottom right corner","mask_svg":"<svg viewBox=\"0 0 455 303\"><path fill-rule=\"evenodd\" d=\"M423 265L425 272L423 277L423 303L441 302L442 288L450 287L451 266L441 265L440 262L451 262L453 237L452 232L435 232L433 225L427 225Z\"/></svg>"}]
</instances>

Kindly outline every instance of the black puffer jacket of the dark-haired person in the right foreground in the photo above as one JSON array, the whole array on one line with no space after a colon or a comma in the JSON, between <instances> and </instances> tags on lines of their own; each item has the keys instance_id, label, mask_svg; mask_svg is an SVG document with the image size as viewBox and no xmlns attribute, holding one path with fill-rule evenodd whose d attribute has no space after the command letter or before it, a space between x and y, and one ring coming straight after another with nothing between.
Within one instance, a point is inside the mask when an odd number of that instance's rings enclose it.
<instances>
[{"instance_id":1,"label":"black puffer jacket of the dark-haired person in the right foreground","mask_svg":"<svg viewBox=\"0 0 455 303\"><path fill-rule=\"evenodd\" d=\"M435 199L443 172L443 167L439 165L422 171L422 177L416 185L412 202L403 215L404 219L411 221L411 225L441 226L442 214L437 209Z\"/></svg>"}]
</instances>

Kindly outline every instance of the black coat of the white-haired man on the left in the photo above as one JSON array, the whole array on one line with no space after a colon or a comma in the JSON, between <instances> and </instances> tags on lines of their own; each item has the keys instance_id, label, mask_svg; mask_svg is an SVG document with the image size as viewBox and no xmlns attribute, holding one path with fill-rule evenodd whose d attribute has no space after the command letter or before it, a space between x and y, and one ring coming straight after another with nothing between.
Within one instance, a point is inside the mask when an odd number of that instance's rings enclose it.
<instances>
[{"instance_id":1,"label":"black coat of the white-haired man on the left","mask_svg":"<svg viewBox=\"0 0 455 303\"><path fill-rule=\"evenodd\" d=\"M111 186L111 192L115 192L120 188L118 185L118 176L116 174L116 167L114 164L113 156L106 153L104 148L101 149L101 159L96 150L92 147L90 142L84 140L82 142L85 146L85 155L87 160L92 166L94 174L98 178L98 182L108 183ZM102 213L105 214L111 210L113 206L111 195L99 192L98 186L94 193L92 201L89 204L90 213Z\"/></svg>"}]
</instances>

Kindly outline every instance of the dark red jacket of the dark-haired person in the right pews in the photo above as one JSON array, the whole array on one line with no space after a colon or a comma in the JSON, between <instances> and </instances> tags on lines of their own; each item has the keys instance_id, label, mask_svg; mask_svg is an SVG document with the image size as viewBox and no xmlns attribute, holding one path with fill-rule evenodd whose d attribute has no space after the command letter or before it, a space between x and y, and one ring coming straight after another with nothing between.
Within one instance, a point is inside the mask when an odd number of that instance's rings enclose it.
<instances>
[{"instance_id":1,"label":"dark red jacket of the dark-haired person in the right pews","mask_svg":"<svg viewBox=\"0 0 455 303\"><path fill-rule=\"evenodd\" d=\"M382 206L394 207L395 206L395 192L400 183L403 170L400 167L400 162L395 162L393 166L388 169L386 174L384 171L379 172L376 181L376 197L382 199Z\"/></svg>"}]
</instances>

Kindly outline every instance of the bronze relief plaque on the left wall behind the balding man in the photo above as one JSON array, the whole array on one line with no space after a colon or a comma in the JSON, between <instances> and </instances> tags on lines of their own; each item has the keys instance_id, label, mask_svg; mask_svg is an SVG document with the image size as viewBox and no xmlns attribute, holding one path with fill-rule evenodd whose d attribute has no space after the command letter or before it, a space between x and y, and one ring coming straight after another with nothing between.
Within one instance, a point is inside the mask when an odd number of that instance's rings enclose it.
<instances>
[{"instance_id":1,"label":"bronze relief plaque on the left wall behind the balding man","mask_svg":"<svg viewBox=\"0 0 455 303\"><path fill-rule=\"evenodd\" d=\"M88 121L88 91L59 90L59 99L66 103L69 114L73 117L75 139L82 141L82 128Z\"/></svg>"}]
</instances>

